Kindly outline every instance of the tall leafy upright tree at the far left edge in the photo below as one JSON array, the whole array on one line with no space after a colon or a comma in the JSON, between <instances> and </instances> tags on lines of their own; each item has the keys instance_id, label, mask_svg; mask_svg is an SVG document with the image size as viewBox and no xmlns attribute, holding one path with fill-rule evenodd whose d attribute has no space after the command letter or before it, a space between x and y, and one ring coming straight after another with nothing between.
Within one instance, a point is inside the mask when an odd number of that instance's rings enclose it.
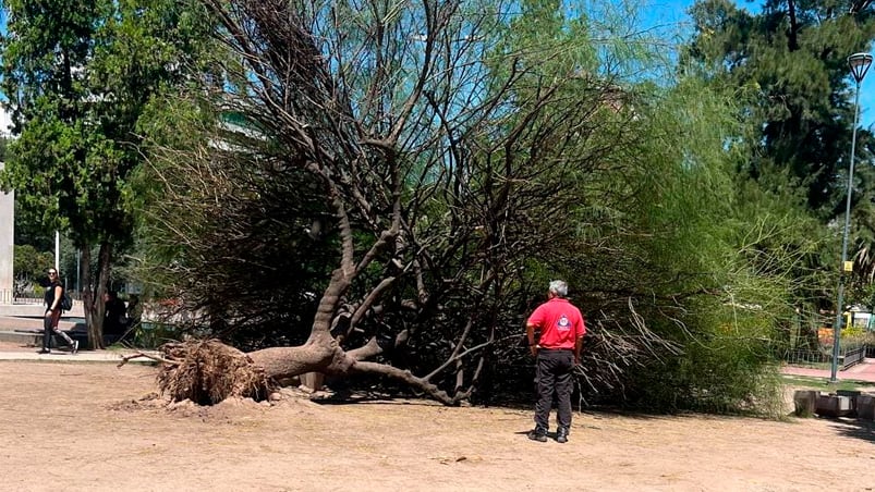
<instances>
[{"instance_id":1,"label":"tall leafy upright tree at the far left edge","mask_svg":"<svg viewBox=\"0 0 875 492\"><path fill-rule=\"evenodd\" d=\"M102 293L131 242L129 174L151 98L182 82L204 23L184 2L9 0L2 38L13 157L3 181L44 227L82 251L88 337L102 346ZM98 248L96 278L92 247Z\"/></svg>"}]
</instances>

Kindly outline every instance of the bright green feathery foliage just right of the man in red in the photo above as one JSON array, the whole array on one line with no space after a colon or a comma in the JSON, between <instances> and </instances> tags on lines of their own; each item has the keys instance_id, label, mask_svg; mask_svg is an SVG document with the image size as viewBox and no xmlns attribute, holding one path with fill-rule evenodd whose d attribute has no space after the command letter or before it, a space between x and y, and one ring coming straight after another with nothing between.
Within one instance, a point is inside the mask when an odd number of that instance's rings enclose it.
<instances>
[{"instance_id":1,"label":"bright green feathery foliage just right of the man in red","mask_svg":"<svg viewBox=\"0 0 875 492\"><path fill-rule=\"evenodd\" d=\"M738 116L743 89L697 76L661 82L618 85L620 109L591 116L598 132L555 156L542 150L549 161L622 142L562 177L576 186L556 199L575 205L549 226L576 234L530 260L530 283L572 281L591 313L584 381L603 397L771 415L779 392L769 346L823 288L813 267L823 231L792 200L739 180L752 134ZM647 355L601 352L615 337L637 339ZM622 385L605 377L618 367Z\"/></svg>"}]
</instances>

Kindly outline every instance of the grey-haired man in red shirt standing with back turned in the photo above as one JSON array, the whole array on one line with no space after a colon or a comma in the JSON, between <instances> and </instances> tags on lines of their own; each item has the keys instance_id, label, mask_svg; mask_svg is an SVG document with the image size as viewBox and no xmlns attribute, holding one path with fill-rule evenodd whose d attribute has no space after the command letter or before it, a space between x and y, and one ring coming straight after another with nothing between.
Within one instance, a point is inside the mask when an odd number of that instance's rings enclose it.
<instances>
[{"instance_id":1,"label":"grey-haired man in red shirt standing with back turned","mask_svg":"<svg viewBox=\"0 0 875 492\"><path fill-rule=\"evenodd\" d=\"M547 442L550 407L556 394L559 428L556 441L568 442L571 428L571 392L574 389L571 371L581 364L581 346L586 327L580 309L566 298L568 284L561 280L550 282L547 302L538 306L525 323L532 356L537 358L537 403L535 404L535 429L528 439ZM535 330L540 339L535 343Z\"/></svg>"}]
</instances>

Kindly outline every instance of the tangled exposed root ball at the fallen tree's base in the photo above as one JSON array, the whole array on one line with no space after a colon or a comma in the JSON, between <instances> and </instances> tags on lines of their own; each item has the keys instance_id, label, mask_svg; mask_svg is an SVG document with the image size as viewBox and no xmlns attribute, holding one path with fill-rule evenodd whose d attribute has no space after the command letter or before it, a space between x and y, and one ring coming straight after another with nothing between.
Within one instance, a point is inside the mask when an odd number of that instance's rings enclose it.
<instances>
[{"instance_id":1,"label":"tangled exposed root ball at the fallen tree's base","mask_svg":"<svg viewBox=\"0 0 875 492\"><path fill-rule=\"evenodd\" d=\"M250 356L218 340L165 344L168 361L158 373L158 388L173 402L191 399L215 405L230 397L267 399L276 382Z\"/></svg>"}]
</instances>

